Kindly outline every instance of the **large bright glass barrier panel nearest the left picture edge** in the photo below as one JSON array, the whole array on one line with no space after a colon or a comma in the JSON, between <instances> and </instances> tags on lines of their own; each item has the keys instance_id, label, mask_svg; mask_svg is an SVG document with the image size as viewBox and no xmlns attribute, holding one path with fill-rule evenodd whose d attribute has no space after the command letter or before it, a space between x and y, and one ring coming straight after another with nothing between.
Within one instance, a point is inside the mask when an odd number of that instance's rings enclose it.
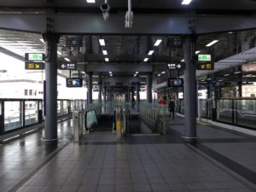
<instances>
[{"instance_id":1,"label":"large bright glass barrier panel nearest the left picture edge","mask_svg":"<svg viewBox=\"0 0 256 192\"><path fill-rule=\"evenodd\" d=\"M4 102L4 131L12 131L23 126L22 102Z\"/></svg>"}]
</instances>

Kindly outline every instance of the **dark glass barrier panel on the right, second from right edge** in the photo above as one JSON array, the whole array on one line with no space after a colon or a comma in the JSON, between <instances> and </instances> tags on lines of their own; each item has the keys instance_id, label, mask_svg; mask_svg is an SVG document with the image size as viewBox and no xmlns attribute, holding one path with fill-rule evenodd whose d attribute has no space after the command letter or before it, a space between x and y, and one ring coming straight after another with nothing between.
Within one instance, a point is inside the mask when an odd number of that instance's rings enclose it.
<instances>
[{"instance_id":1,"label":"dark glass barrier panel on the right, second from right edge","mask_svg":"<svg viewBox=\"0 0 256 192\"><path fill-rule=\"evenodd\" d=\"M232 123L232 100L217 101L217 120L224 123Z\"/></svg>"}]
</instances>

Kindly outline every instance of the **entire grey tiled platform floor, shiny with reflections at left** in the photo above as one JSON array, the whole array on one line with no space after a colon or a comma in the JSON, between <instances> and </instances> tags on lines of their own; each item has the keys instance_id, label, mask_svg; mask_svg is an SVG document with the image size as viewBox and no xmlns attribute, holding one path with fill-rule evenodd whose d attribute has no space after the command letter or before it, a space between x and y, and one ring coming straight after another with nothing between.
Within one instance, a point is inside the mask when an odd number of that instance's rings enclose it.
<instances>
[{"instance_id":1,"label":"entire grey tiled platform floor, shiny with reflections at left","mask_svg":"<svg viewBox=\"0 0 256 192\"><path fill-rule=\"evenodd\" d=\"M198 143L182 142L183 118L166 135L135 134L116 141L95 131L72 142L72 124L59 124L57 146L34 133L0 147L1 191L253 192L256 137L197 125Z\"/></svg>"}]
</instances>

